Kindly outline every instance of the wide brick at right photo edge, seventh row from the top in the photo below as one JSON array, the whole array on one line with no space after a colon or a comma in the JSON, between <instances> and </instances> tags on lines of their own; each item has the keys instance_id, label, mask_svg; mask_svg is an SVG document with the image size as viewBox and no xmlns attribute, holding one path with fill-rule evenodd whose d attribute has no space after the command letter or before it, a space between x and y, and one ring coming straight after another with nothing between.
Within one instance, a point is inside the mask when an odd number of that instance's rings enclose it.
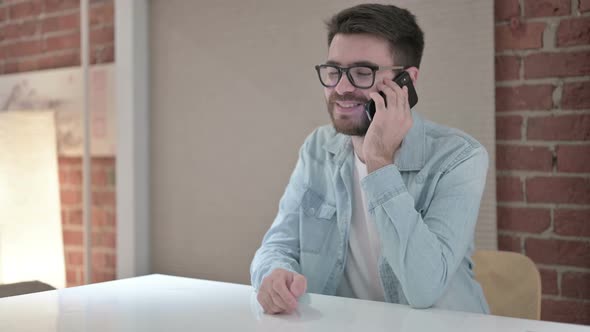
<instances>
[{"instance_id":1,"label":"wide brick at right photo edge, seventh row from the top","mask_svg":"<svg viewBox=\"0 0 590 332\"><path fill-rule=\"evenodd\" d=\"M529 178L526 180L526 197L531 203L590 204L590 179Z\"/></svg>"}]
</instances>

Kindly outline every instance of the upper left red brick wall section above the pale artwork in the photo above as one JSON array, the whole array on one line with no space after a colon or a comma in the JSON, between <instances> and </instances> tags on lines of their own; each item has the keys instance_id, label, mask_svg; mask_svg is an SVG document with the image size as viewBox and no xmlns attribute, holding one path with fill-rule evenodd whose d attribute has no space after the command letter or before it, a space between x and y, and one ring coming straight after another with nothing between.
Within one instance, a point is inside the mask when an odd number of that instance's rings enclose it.
<instances>
[{"instance_id":1,"label":"upper left red brick wall section above the pale artwork","mask_svg":"<svg viewBox=\"0 0 590 332\"><path fill-rule=\"evenodd\" d=\"M90 62L113 62L113 0L90 3ZM0 26L0 74L80 65L79 0L1 1Z\"/></svg>"}]
</instances>

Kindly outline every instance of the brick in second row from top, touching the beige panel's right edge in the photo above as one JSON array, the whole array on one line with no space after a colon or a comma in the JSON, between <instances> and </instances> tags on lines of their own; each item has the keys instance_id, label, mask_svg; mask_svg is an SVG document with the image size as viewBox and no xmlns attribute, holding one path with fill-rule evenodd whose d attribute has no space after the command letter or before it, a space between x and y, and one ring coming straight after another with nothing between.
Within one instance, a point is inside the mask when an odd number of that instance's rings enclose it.
<instances>
[{"instance_id":1,"label":"brick in second row from top, touching the beige panel's right edge","mask_svg":"<svg viewBox=\"0 0 590 332\"><path fill-rule=\"evenodd\" d=\"M497 26L495 29L496 52L504 50L536 49L543 47L545 23L523 23L516 27Z\"/></svg>"}]
</instances>

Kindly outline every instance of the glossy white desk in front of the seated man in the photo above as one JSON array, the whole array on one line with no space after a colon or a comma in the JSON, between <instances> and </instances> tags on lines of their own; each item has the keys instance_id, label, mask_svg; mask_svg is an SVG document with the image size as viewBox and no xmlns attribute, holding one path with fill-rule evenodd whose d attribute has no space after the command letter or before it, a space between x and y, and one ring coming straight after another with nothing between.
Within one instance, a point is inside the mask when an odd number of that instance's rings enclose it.
<instances>
[{"instance_id":1,"label":"glossy white desk in front of the seated man","mask_svg":"<svg viewBox=\"0 0 590 332\"><path fill-rule=\"evenodd\" d=\"M261 312L252 287L164 275L0 299L0 331L590 331L309 294L296 313Z\"/></svg>"}]
</instances>

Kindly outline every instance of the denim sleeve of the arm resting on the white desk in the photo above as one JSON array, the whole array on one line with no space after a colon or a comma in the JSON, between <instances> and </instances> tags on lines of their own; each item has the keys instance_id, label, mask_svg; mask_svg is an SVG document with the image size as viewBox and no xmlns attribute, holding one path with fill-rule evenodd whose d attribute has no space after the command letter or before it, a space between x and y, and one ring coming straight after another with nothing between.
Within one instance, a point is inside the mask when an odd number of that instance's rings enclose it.
<instances>
[{"instance_id":1,"label":"denim sleeve of the arm resting on the white desk","mask_svg":"<svg viewBox=\"0 0 590 332\"><path fill-rule=\"evenodd\" d=\"M307 143L307 142L306 142ZM279 211L250 265L252 286L258 290L262 280L282 268L301 273L299 266L299 207L304 193L303 169L306 143L299 151L297 165L279 202Z\"/></svg>"}]
</instances>

